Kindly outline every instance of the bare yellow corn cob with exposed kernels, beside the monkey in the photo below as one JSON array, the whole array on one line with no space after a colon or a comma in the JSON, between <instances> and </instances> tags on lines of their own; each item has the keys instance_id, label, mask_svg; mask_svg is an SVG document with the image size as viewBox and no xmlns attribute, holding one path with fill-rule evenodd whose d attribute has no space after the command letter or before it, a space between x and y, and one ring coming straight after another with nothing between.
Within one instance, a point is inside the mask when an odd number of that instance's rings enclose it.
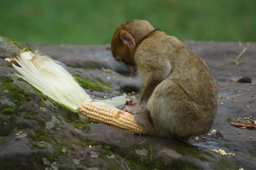
<instances>
[{"instance_id":1,"label":"bare yellow corn cob with exposed kernels, beside the monkey","mask_svg":"<svg viewBox=\"0 0 256 170\"><path fill-rule=\"evenodd\" d=\"M101 102L93 102L90 99L84 101L79 109L80 113L92 122L105 123L134 133L145 133L143 128L135 123L131 113L113 106Z\"/></svg>"}]
</instances>

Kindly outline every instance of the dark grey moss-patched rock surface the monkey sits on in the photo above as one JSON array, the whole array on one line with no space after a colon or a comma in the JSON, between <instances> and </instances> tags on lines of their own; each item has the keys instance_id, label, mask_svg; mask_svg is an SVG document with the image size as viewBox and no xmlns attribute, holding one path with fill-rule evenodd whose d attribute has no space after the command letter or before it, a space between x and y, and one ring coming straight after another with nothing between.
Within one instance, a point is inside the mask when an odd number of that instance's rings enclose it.
<instances>
[{"instance_id":1,"label":"dark grey moss-patched rock surface the monkey sits on","mask_svg":"<svg viewBox=\"0 0 256 170\"><path fill-rule=\"evenodd\" d=\"M13 74L15 69L4 65L8 54L26 44L0 37L0 170L256 170L256 130L240 129L227 119L229 115L240 120L256 116L255 78L253 83L232 82L240 76L256 77L256 44L185 43L207 61L220 84L218 95L223 97L218 99L212 129L220 130L221 134L206 134L209 141L198 136L198 142L193 136L189 144L179 144L79 119L17 78ZM88 94L139 94L140 81L129 77L124 65L113 62L109 45L29 45L50 51L48 55L65 63L71 73L78 74L79 83L91 89ZM248 49L240 57L239 65L229 61L236 59L245 47ZM222 156L212 149L236 156Z\"/></svg>"}]
</instances>

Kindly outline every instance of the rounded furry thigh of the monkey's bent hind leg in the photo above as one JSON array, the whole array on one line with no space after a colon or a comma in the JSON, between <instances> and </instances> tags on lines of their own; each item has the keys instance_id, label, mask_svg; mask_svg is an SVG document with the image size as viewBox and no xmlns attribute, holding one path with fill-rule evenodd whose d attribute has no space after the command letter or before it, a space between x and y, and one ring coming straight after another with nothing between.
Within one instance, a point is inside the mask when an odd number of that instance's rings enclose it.
<instances>
[{"instance_id":1,"label":"rounded furry thigh of the monkey's bent hind leg","mask_svg":"<svg viewBox=\"0 0 256 170\"><path fill-rule=\"evenodd\" d=\"M146 105L158 136L180 139L209 130L210 125L206 122L211 118L207 118L199 107L171 79L157 85ZM145 122L143 124L146 125Z\"/></svg>"}]
</instances>

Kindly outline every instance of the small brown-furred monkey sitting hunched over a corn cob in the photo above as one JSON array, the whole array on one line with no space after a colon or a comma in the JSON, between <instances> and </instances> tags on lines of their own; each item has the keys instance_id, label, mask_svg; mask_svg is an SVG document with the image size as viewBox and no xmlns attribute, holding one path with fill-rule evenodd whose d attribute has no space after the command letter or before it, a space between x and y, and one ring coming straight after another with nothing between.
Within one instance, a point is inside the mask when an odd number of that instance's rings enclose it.
<instances>
[{"instance_id":1,"label":"small brown-furred monkey sitting hunched over a corn cob","mask_svg":"<svg viewBox=\"0 0 256 170\"><path fill-rule=\"evenodd\" d=\"M207 62L188 45L137 19L116 28L111 53L143 82L137 103L124 110L147 134L186 141L210 130L217 83Z\"/></svg>"}]
</instances>

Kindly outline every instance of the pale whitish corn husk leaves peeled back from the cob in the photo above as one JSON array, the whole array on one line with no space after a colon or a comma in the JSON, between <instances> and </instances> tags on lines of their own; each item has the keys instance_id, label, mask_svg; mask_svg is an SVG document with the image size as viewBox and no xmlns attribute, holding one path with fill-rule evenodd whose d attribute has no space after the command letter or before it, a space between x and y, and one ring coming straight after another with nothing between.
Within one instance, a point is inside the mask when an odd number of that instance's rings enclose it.
<instances>
[{"instance_id":1,"label":"pale whitish corn husk leaves peeled back from the cob","mask_svg":"<svg viewBox=\"0 0 256 170\"><path fill-rule=\"evenodd\" d=\"M79 106L85 100L91 99L61 62L50 59L38 51L34 53L21 51L20 57L14 59L20 65L17 67L12 64L21 74L16 74L17 77L26 80L44 95L64 105L70 111L79 112ZM125 96L97 101L116 107L125 104Z\"/></svg>"}]
</instances>

